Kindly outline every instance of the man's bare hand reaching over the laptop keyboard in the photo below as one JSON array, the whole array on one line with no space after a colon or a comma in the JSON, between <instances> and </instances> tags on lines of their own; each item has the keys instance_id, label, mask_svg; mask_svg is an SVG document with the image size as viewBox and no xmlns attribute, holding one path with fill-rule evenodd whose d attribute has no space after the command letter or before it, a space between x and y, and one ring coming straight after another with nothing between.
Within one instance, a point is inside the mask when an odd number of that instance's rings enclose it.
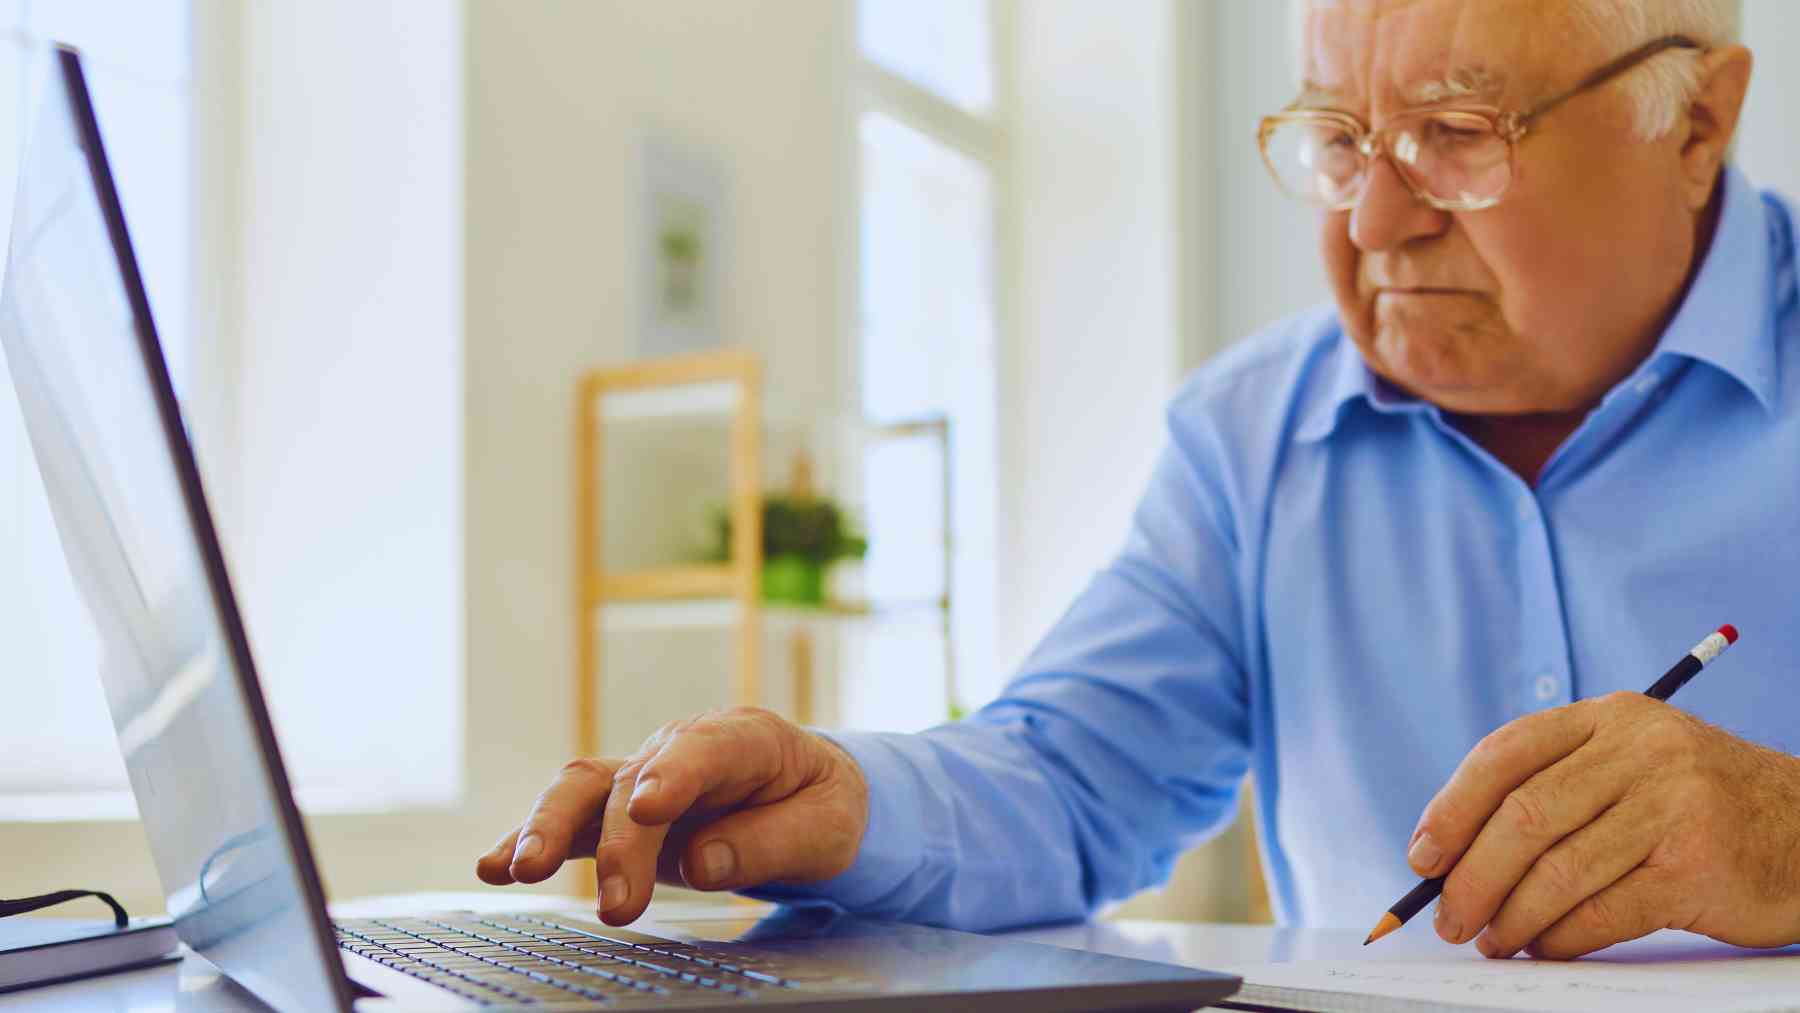
<instances>
[{"instance_id":1,"label":"man's bare hand reaching over the laptop keyboard","mask_svg":"<svg viewBox=\"0 0 1800 1013\"><path fill-rule=\"evenodd\" d=\"M869 822L862 768L830 740L738 707L670 722L625 759L572 759L475 862L493 885L594 858L599 916L626 925L657 880L700 891L828 880Z\"/></svg>"}]
</instances>

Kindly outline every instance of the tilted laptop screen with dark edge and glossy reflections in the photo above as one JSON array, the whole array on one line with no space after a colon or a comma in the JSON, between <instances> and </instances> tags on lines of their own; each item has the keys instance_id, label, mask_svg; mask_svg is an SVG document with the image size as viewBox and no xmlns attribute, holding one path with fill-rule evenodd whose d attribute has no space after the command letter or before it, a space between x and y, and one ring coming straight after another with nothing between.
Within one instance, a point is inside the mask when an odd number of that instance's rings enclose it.
<instances>
[{"instance_id":1,"label":"tilted laptop screen with dark edge and glossy reflections","mask_svg":"<svg viewBox=\"0 0 1800 1013\"><path fill-rule=\"evenodd\" d=\"M20 167L0 349L99 633L131 790L182 939L275 1008L342 1008L81 63L56 56Z\"/></svg>"}]
</instances>

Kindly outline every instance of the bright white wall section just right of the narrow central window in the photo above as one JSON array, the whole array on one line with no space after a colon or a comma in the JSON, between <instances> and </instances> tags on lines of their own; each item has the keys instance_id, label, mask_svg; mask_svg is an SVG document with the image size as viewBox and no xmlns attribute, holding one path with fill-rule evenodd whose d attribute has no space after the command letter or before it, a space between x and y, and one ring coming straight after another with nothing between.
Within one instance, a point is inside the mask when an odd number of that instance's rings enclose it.
<instances>
[{"instance_id":1,"label":"bright white wall section just right of the narrow central window","mask_svg":"<svg viewBox=\"0 0 1800 1013\"><path fill-rule=\"evenodd\" d=\"M1001 356L1012 671L1125 538L1183 358L1175 4L1017 7L1015 299Z\"/></svg>"}]
</instances>

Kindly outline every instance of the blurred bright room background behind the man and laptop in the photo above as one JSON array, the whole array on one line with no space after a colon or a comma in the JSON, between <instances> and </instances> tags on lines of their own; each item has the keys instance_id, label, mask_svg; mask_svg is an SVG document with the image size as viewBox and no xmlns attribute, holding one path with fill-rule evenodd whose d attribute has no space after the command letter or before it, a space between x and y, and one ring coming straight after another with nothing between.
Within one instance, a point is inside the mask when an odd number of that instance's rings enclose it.
<instances>
[{"instance_id":1,"label":"blurred bright room background behind the man and laptop","mask_svg":"<svg viewBox=\"0 0 1800 1013\"><path fill-rule=\"evenodd\" d=\"M475 887L569 756L706 707L979 707L1181 376L1325 297L1273 0L0 0L0 227L47 40L335 898ZM1741 164L1800 193L1800 5L1746 40ZM0 644L0 896L158 910L7 385ZM1267 918L1244 826L1121 910Z\"/></svg>"}]
</instances>

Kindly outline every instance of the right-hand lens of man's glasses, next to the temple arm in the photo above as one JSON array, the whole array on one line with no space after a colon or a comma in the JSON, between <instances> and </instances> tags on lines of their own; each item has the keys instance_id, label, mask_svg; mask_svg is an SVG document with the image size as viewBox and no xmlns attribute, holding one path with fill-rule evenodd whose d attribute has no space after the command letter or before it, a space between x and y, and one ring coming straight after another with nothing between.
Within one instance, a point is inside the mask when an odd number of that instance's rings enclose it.
<instances>
[{"instance_id":1,"label":"right-hand lens of man's glasses, next to the temple arm","mask_svg":"<svg viewBox=\"0 0 1800 1013\"><path fill-rule=\"evenodd\" d=\"M1395 121L1388 151L1415 187L1447 207L1492 207L1512 184L1510 146L1480 115L1436 112Z\"/></svg>"}]
</instances>

